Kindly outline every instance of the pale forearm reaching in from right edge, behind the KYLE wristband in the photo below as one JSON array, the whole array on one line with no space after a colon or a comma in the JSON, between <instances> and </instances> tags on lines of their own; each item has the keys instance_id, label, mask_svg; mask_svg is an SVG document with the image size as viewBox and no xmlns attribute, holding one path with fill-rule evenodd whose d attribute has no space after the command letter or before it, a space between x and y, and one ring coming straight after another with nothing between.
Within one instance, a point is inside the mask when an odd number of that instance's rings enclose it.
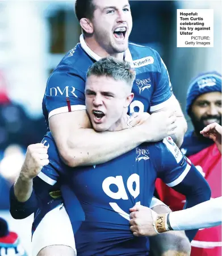
<instances>
[{"instance_id":1,"label":"pale forearm reaching in from right edge, behind the KYLE wristband","mask_svg":"<svg viewBox=\"0 0 222 256\"><path fill-rule=\"evenodd\" d=\"M173 230L210 228L221 225L221 213L222 197L218 197L192 208L170 213L169 222Z\"/></svg>"}]
</instances>

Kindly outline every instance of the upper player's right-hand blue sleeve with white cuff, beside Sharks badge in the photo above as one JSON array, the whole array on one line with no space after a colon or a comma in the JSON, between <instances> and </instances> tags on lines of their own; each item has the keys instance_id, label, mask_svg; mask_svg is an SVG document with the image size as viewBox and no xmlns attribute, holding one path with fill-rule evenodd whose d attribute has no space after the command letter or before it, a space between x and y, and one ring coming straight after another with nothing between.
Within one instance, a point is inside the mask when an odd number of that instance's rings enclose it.
<instances>
[{"instance_id":1,"label":"upper player's right-hand blue sleeve with white cuff, beside Sharks badge","mask_svg":"<svg viewBox=\"0 0 222 256\"><path fill-rule=\"evenodd\" d=\"M156 77L155 90L150 101L150 112L158 111L165 107L167 100L173 95L169 73L160 55L154 51L159 65L159 72Z\"/></svg>"}]
</instances>

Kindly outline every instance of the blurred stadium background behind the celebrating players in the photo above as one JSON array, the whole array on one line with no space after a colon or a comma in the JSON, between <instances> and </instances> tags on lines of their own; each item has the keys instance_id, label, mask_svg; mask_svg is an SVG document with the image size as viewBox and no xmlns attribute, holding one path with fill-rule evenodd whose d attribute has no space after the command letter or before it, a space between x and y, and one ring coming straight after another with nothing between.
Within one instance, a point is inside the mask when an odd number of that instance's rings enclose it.
<instances>
[{"instance_id":1,"label":"blurred stadium background behind the celebrating players","mask_svg":"<svg viewBox=\"0 0 222 256\"><path fill-rule=\"evenodd\" d=\"M200 72L221 72L221 1L130 3L130 40L160 53L185 110L190 79ZM27 146L40 142L46 133L41 101L47 79L65 52L79 42L81 30L73 7L73 0L0 0L0 216L19 234L28 252L32 216L22 221L10 217L9 188ZM177 9L214 10L213 48L177 48Z\"/></svg>"}]
</instances>

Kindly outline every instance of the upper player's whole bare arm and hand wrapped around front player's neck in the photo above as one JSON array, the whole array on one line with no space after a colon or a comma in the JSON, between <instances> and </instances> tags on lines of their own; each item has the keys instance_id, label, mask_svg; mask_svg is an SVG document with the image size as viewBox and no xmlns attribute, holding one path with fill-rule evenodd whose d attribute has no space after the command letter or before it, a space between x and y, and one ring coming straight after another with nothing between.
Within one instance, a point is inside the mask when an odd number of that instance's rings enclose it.
<instances>
[{"instance_id":1,"label":"upper player's whole bare arm and hand wrapped around front player's neck","mask_svg":"<svg viewBox=\"0 0 222 256\"><path fill-rule=\"evenodd\" d=\"M70 167L107 162L145 141L164 138L172 128L169 116L158 113L131 129L97 132L91 129L85 110L53 115L49 127L62 160Z\"/></svg>"}]
</instances>

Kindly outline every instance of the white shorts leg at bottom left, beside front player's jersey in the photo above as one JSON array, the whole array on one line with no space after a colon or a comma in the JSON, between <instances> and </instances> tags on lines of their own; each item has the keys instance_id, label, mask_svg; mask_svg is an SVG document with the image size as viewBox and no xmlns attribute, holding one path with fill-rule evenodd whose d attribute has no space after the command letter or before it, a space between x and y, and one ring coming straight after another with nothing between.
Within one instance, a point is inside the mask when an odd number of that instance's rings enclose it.
<instances>
[{"instance_id":1,"label":"white shorts leg at bottom left, beside front player's jersey","mask_svg":"<svg viewBox=\"0 0 222 256\"><path fill-rule=\"evenodd\" d=\"M69 246L76 253L72 224L65 207L62 206L60 204L48 212L37 226L32 236L32 256L36 256L41 249L50 245Z\"/></svg>"}]
</instances>

